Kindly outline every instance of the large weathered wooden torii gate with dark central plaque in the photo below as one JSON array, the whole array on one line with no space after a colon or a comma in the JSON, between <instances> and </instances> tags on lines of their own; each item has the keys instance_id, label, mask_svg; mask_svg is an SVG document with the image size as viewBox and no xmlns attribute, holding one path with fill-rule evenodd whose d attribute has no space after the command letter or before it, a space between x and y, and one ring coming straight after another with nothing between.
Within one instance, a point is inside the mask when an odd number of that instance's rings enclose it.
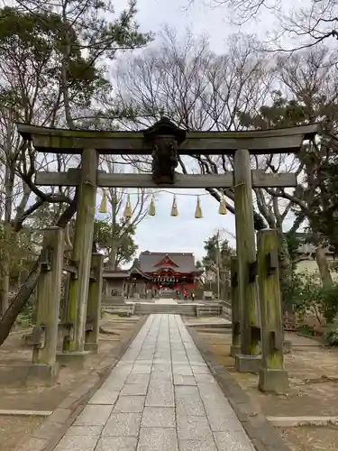
<instances>
[{"instance_id":1,"label":"large weathered wooden torii gate with dark central plaque","mask_svg":"<svg viewBox=\"0 0 338 451\"><path fill-rule=\"evenodd\" d=\"M70 278L67 303L68 321L74 322L74 336L64 343L64 351L84 351L90 258L96 211L96 187L102 188L234 188L240 329L244 367L259 353L257 336L258 290L252 188L297 186L293 173L265 173L251 170L250 155L298 152L304 140L313 139L318 124L249 132L186 132L162 118L141 132L100 132L63 130L18 124L24 139L32 141L37 152L81 155L81 169L67 172L38 172L40 186L78 187L78 213L72 260L78 263L78 278ZM98 171L99 154L153 155L162 161L153 174L107 174ZM174 173L177 155L233 156L233 172L183 175ZM166 166L167 165L167 166ZM160 168L160 169L159 169ZM159 171L164 177L159 177ZM163 183L163 181L167 181ZM245 364L246 363L246 364Z\"/></svg>"}]
</instances>

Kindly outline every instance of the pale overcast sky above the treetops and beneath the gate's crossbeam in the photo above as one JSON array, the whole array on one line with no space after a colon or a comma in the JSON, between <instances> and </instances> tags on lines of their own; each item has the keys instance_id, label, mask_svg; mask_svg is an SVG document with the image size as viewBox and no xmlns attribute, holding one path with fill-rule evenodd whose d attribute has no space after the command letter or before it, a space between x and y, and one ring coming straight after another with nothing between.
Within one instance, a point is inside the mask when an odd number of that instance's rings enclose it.
<instances>
[{"instance_id":1,"label":"pale overcast sky above the treetops and beneath the gate's crossbeam","mask_svg":"<svg viewBox=\"0 0 338 451\"><path fill-rule=\"evenodd\" d=\"M287 0L286 0L287 1ZM123 0L118 6L125 5ZM224 6L210 7L203 0L195 2L187 8L187 0L139 0L138 21L142 31L160 32L165 25L176 29L178 34L185 33L187 27L196 35L206 34L210 48L215 52L223 52L227 37L237 32L229 23L229 15ZM263 14L251 25L246 25L245 32L259 32L261 37L266 32L265 25L271 24L268 14ZM202 219L195 219L196 197L202 196ZM162 192L156 201L156 216L146 217L137 229L136 241L139 251L153 252L192 252L196 259L203 254L203 242L210 235L221 229L222 236L234 246L234 217L218 215L218 203L205 191L177 190L178 216L170 216L172 195Z\"/></svg>"}]
</instances>

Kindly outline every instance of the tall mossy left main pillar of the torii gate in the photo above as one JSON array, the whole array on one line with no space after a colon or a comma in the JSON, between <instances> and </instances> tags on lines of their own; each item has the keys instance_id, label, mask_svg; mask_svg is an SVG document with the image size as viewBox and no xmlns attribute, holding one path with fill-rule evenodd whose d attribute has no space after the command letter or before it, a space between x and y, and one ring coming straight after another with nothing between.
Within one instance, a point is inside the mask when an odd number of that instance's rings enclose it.
<instances>
[{"instance_id":1,"label":"tall mossy left main pillar of the torii gate","mask_svg":"<svg viewBox=\"0 0 338 451\"><path fill-rule=\"evenodd\" d=\"M73 336L66 337L63 350L84 350L87 320L87 297L96 211L96 177L98 154L95 149L82 153L80 183L78 185L78 214L75 225L72 260L78 264L78 276L70 277L66 321L74 323Z\"/></svg>"}]
</instances>

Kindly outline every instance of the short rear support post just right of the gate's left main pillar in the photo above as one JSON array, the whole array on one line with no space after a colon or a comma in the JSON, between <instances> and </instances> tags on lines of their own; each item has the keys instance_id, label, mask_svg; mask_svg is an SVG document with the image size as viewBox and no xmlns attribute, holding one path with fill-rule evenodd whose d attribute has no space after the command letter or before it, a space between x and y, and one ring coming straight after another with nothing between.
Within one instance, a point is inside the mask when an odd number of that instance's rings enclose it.
<instances>
[{"instance_id":1,"label":"short rear support post just right of the gate's left main pillar","mask_svg":"<svg viewBox=\"0 0 338 451\"><path fill-rule=\"evenodd\" d=\"M104 272L104 256L102 253L92 254L92 275L89 281L89 292L87 302L87 321L93 325L91 330L86 332L85 350L97 352L98 350L98 334L101 318L101 298L102 298L102 281Z\"/></svg>"}]
</instances>

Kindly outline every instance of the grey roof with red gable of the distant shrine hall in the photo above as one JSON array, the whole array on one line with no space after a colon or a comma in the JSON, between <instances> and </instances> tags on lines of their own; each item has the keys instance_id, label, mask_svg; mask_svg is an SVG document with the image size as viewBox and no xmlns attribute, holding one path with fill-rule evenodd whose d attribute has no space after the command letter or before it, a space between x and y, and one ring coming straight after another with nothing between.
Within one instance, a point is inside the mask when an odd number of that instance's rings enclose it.
<instances>
[{"instance_id":1,"label":"grey roof with red gable of the distant shrine hall","mask_svg":"<svg viewBox=\"0 0 338 451\"><path fill-rule=\"evenodd\" d=\"M158 272L160 269L170 268L175 272L201 272L196 268L193 253L151 253L145 251L140 254L140 268L142 272Z\"/></svg>"}]
</instances>

